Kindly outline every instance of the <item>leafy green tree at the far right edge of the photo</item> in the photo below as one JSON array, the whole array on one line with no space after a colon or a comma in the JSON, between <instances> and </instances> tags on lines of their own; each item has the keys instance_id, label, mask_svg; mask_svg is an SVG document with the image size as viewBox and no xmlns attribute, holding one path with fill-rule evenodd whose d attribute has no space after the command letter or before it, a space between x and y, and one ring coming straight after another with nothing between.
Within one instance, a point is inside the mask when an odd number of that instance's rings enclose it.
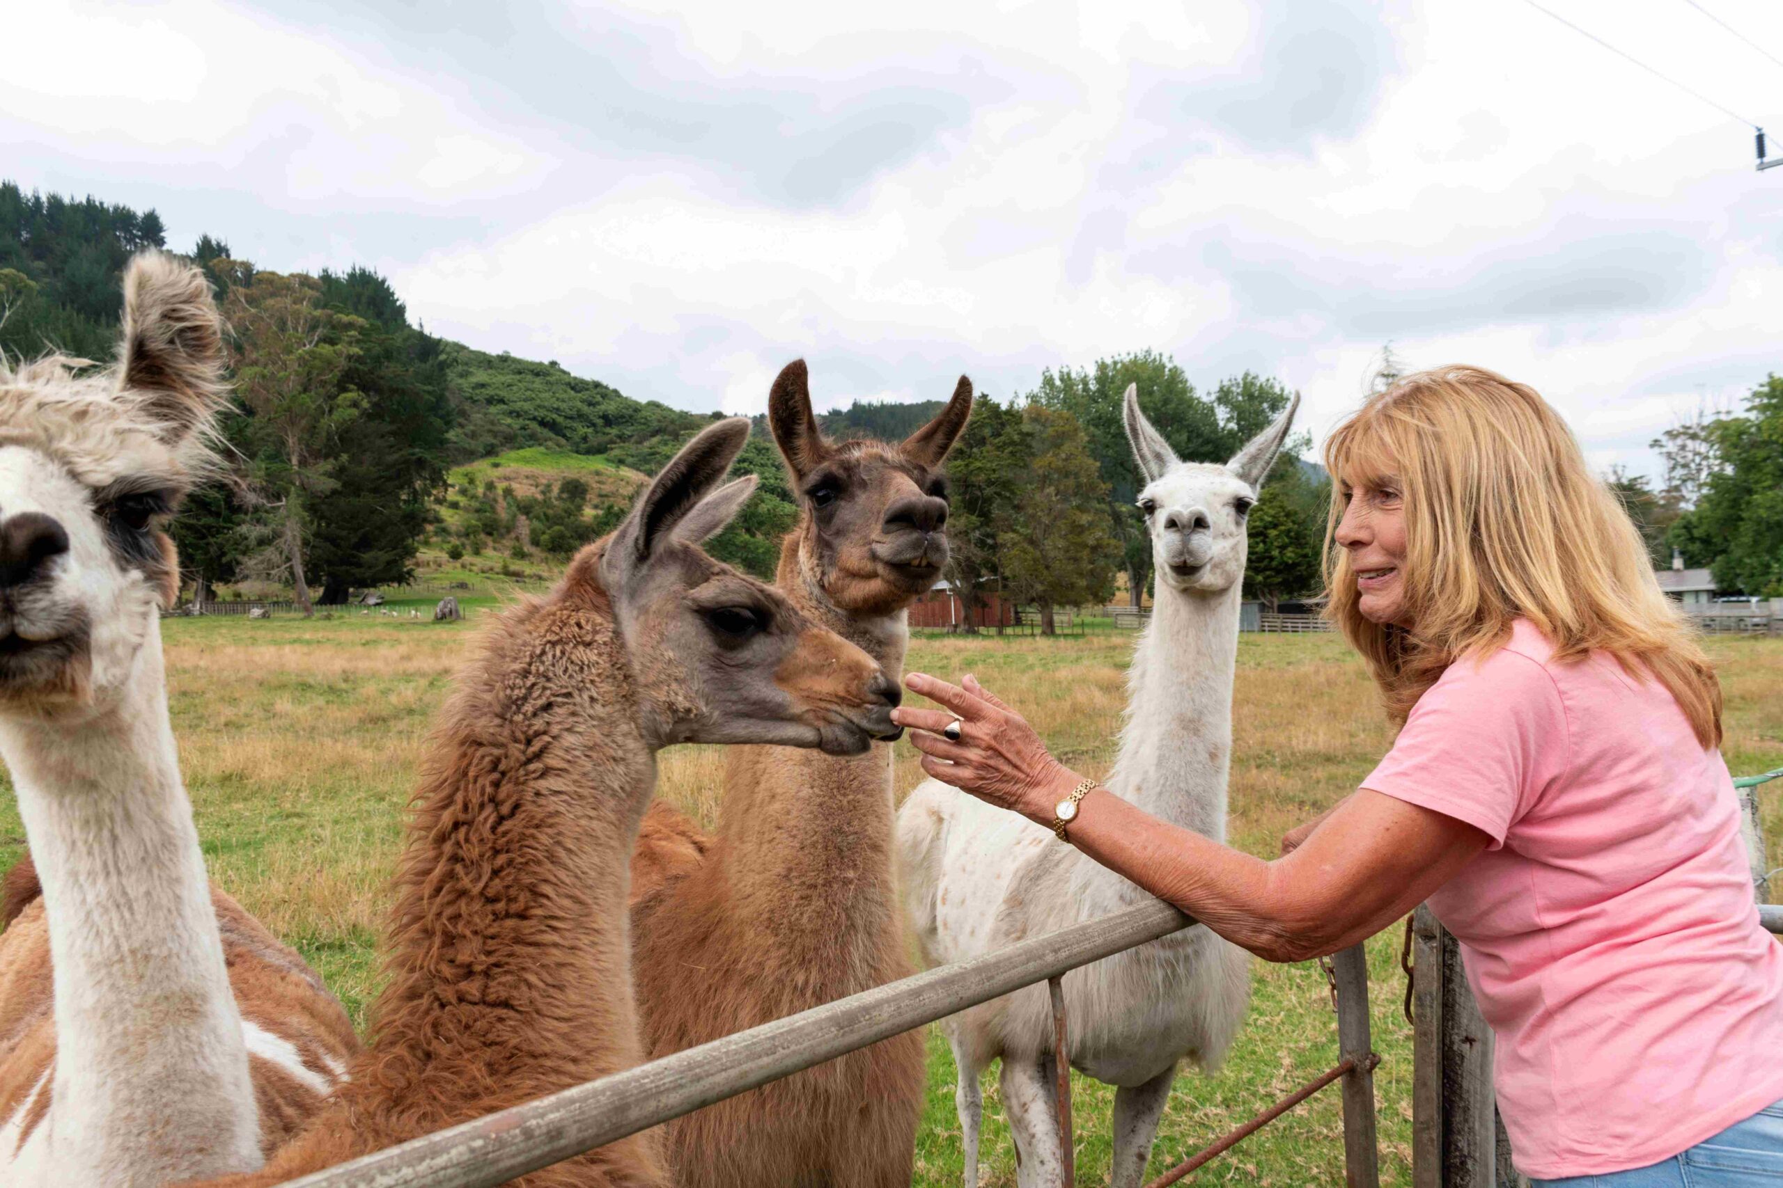
<instances>
[{"instance_id":1,"label":"leafy green tree at the far right edge of the photo","mask_svg":"<svg viewBox=\"0 0 1783 1188\"><path fill-rule=\"evenodd\" d=\"M1696 506L1672 527L1680 547L1710 556L1715 584L1783 595L1783 378L1753 390L1742 415L1701 426L1715 468Z\"/></svg>"}]
</instances>

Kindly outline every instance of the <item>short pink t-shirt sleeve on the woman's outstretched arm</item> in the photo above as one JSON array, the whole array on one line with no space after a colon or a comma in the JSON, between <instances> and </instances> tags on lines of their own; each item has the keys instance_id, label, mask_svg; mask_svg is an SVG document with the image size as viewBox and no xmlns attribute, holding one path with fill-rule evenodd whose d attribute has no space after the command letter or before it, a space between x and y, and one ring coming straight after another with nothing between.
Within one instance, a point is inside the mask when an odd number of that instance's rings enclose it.
<instances>
[{"instance_id":1,"label":"short pink t-shirt sleeve on the woman's outstretched arm","mask_svg":"<svg viewBox=\"0 0 1783 1188\"><path fill-rule=\"evenodd\" d=\"M1565 771L1565 707L1548 670L1500 648L1430 686L1362 787L1466 821L1505 844Z\"/></svg>"}]
</instances>

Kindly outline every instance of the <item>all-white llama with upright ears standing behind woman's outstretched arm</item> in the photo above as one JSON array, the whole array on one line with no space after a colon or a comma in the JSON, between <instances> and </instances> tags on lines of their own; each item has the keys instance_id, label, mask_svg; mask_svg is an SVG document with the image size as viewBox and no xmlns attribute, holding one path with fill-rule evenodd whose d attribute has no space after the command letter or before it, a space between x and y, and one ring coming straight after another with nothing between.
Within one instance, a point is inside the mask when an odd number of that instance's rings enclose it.
<instances>
[{"instance_id":1,"label":"all-white llama with upright ears standing behind woman's outstretched arm","mask_svg":"<svg viewBox=\"0 0 1783 1188\"><path fill-rule=\"evenodd\" d=\"M1105 787L1146 812L1225 839L1245 515L1300 399L1227 465L1184 463L1125 395L1127 438L1146 486L1157 598L1134 648L1127 723ZM1148 898L1050 830L940 780L897 821L906 907L931 964L961 962ZM1177 1063L1212 1072L1250 997L1250 958L1207 928L1154 940L1064 976L1072 1067L1114 1085L1111 1188L1136 1188ZM1064 1183L1052 1095L1052 1012L1029 987L943 1024L959 1067L965 1183L977 1184L979 1072L1002 1058L1002 1099L1022 1188Z\"/></svg>"}]
</instances>

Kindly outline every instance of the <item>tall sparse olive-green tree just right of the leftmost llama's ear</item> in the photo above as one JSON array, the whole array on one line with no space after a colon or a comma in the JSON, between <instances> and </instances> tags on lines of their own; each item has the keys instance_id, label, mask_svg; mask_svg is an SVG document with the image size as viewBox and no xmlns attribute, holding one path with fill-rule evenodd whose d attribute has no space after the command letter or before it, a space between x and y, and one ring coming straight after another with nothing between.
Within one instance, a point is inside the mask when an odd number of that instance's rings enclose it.
<instances>
[{"instance_id":1,"label":"tall sparse olive-green tree just right of the leftmost llama's ear","mask_svg":"<svg viewBox=\"0 0 1783 1188\"><path fill-rule=\"evenodd\" d=\"M244 274L226 264L212 267ZM341 385L364 322L325 308L319 296L316 278L280 273L253 273L228 294L235 394L253 417L250 433L259 447L251 481L275 527L257 568L289 574L305 616L316 613L303 570L307 504L335 488L335 438L364 410L360 394Z\"/></svg>"}]
</instances>

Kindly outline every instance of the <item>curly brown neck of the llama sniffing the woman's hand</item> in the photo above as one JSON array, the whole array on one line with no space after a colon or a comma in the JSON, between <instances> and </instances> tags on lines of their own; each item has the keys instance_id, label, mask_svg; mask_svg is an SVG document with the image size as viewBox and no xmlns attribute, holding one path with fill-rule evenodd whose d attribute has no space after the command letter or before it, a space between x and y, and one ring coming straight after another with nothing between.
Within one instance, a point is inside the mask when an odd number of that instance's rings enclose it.
<instances>
[{"instance_id":1,"label":"curly brown neck of the llama sniffing the woman's hand","mask_svg":"<svg viewBox=\"0 0 1783 1188\"><path fill-rule=\"evenodd\" d=\"M656 764L612 623L546 607L533 625L460 680L398 871L366 1092L442 1124L490 1086L519 1101L642 1060L613 971Z\"/></svg>"}]
</instances>

